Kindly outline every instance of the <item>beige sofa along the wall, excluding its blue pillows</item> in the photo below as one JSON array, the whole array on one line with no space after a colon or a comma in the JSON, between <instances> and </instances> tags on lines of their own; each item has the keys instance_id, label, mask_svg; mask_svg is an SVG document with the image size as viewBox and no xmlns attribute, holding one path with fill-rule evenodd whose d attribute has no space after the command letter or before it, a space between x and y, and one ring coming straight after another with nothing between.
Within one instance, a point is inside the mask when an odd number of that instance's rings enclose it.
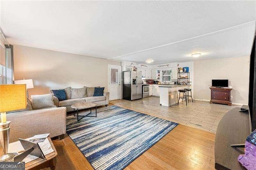
<instances>
[{"instance_id":1,"label":"beige sofa along the wall, excluding its blue pillows","mask_svg":"<svg viewBox=\"0 0 256 170\"><path fill-rule=\"evenodd\" d=\"M74 111L71 108L71 105L79 102L94 102L98 106L108 105L109 102L109 92L104 92L103 96L93 96L94 87L83 87L79 89L73 89L71 87L67 87L64 89L66 92L67 100L58 101L58 98L54 96L54 104L57 107L66 107L67 112ZM51 90L51 93L54 93Z\"/></svg>"}]
</instances>

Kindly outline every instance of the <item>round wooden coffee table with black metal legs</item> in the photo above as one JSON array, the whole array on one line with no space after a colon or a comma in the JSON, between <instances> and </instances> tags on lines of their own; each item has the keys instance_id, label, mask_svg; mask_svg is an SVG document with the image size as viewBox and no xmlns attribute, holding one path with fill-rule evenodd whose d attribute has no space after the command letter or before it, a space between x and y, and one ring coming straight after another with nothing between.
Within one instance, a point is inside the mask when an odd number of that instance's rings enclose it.
<instances>
[{"instance_id":1,"label":"round wooden coffee table with black metal legs","mask_svg":"<svg viewBox=\"0 0 256 170\"><path fill-rule=\"evenodd\" d=\"M80 121L84 117L97 117L97 105L93 102L82 102L82 103L75 103L74 105L71 105L71 107L74 109L74 116L77 116L77 121ZM95 116L88 116L92 113L92 108L95 107ZM90 113L87 115L78 115L78 109L89 109L90 108ZM75 115L75 109L76 109L76 115ZM82 117L78 119L78 117Z\"/></svg>"}]
</instances>

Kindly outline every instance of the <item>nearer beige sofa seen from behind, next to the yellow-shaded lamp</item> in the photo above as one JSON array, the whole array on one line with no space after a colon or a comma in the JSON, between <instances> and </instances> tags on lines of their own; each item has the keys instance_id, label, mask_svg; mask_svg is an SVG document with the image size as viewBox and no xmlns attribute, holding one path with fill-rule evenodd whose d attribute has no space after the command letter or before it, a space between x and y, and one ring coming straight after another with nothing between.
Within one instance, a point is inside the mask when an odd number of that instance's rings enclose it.
<instances>
[{"instance_id":1,"label":"nearer beige sofa seen from behind, next to the yellow-shaded lamp","mask_svg":"<svg viewBox=\"0 0 256 170\"><path fill-rule=\"evenodd\" d=\"M26 109L7 112L6 119L10 123L10 142L18 138L29 138L36 134L50 133L50 137L66 133L66 107L50 107L32 110L32 103L27 99Z\"/></svg>"}]
</instances>

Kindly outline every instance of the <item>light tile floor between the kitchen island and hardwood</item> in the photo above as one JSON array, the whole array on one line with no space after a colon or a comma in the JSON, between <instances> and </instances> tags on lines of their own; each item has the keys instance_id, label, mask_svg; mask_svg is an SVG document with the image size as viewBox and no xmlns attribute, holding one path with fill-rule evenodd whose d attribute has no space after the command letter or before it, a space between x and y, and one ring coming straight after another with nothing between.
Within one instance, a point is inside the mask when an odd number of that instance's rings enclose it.
<instances>
[{"instance_id":1,"label":"light tile floor between the kitchen island and hardwood","mask_svg":"<svg viewBox=\"0 0 256 170\"><path fill-rule=\"evenodd\" d=\"M195 100L192 103L191 99L187 106L184 101L179 105L166 107L159 104L159 97L153 96L136 101L120 99L110 101L110 103L214 134L222 116L234 107L241 107Z\"/></svg>"}]
</instances>

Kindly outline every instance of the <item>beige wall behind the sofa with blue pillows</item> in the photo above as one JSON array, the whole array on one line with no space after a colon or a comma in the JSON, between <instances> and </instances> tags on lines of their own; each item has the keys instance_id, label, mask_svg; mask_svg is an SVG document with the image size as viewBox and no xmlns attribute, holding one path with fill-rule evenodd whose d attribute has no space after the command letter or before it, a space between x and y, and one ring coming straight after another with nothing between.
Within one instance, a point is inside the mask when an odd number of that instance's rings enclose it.
<instances>
[{"instance_id":1,"label":"beige wall behind the sofa with blue pillows","mask_svg":"<svg viewBox=\"0 0 256 170\"><path fill-rule=\"evenodd\" d=\"M108 91L108 64L121 62L14 45L14 79L33 79L34 89L28 89L30 95L69 86L101 86Z\"/></svg>"}]
</instances>

